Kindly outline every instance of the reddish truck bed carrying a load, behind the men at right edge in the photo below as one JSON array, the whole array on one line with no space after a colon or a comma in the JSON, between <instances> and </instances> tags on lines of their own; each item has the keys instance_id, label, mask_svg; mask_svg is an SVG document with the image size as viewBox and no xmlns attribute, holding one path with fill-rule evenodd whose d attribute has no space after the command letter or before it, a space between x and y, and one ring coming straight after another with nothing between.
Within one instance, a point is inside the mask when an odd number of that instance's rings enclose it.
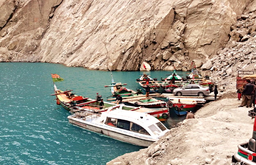
<instances>
[{"instance_id":1,"label":"reddish truck bed carrying a load, behind the men at right edge","mask_svg":"<svg viewBox=\"0 0 256 165\"><path fill-rule=\"evenodd\" d=\"M236 89L239 89L242 84L246 83L246 81L254 80L256 78L256 71L253 70L238 70L238 74L236 77Z\"/></svg>"}]
</instances>

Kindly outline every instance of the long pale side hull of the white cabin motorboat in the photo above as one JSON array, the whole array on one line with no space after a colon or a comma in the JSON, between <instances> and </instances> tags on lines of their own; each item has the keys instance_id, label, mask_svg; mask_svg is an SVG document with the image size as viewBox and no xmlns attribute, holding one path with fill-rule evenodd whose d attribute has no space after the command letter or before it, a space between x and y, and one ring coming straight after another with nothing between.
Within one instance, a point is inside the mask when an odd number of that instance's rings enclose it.
<instances>
[{"instance_id":1,"label":"long pale side hull of the white cabin motorboat","mask_svg":"<svg viewBox=\"0 0 256 165\"><path fill-rule=\"evenodd\" d=\"M125 131L123 130L122 132L123 133L117 133L117 132L114 132L114 131L111 131L110 129L104 129L104 128L100 128L100 127L96 127L95 125L93 124L90 124L90 123L84 123L84 122L79 122L77 120L73 120L72 118L68 118L68 121L75 125L75 126L78 126L78 127L81 127L83 129L86 129L88 131L92 131L92 132L95 132L95 133L99 133L99 134L102 134L104 136L108 136L108 137L111 137L111 138L114 138L116 140L120 140L120 141L123 141L123 142L128 142L128 143L131 143L133 145L138 145L138 146L143 146L143 147L148 147L150 146L153 142L155 142L156 140L154 139L140 139L140 138L135 138L135 137L132 137L132 136L128 136L126 135ZM108 126L109 128L111 128L111 126ZM106 128L108 128L106 127ZM128 133L127 133L128 134Z\"/></svg>"}]
</instances>

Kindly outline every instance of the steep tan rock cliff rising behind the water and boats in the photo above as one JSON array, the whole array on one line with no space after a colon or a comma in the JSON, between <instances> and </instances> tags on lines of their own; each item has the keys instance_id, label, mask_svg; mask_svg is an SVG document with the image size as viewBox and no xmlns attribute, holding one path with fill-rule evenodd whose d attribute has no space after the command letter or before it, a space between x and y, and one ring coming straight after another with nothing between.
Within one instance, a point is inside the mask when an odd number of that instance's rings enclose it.
<instances>
[{"instance_id":1,"label":"steep tan rock cliff rising behind the water and boats","mask_svg":"<svg viewBox=\"0 0 256 165\"><path fill-rule=\"evenodd\" d=\"M250 0L0 0L0 61L190 70L229 41ZM243 17L244 18L244 17ZM256 27L251 27L253 31ZM245 32L233 32L232 41Z\"/></svg>"}]
</instances>

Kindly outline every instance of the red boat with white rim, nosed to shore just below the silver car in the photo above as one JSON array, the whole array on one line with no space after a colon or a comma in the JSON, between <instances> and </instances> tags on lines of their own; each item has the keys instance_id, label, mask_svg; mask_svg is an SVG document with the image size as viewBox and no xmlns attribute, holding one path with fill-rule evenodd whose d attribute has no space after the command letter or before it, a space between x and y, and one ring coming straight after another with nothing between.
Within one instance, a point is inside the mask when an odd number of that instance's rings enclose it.
<instances>
[{"instance_id":1,"label":"red boat with white rim, nosed to shore just below the silver car","mask_svg":"<svg viewBox=\"0 0 256 165\"><path fill-rule=\"evenodd\" d=\"M193 111L197 106L196 101L188 101L181 99L169 100L167 102L170 111L174 111L177 115L186 115L189 111Z\"/></svg>"}]
</instances>

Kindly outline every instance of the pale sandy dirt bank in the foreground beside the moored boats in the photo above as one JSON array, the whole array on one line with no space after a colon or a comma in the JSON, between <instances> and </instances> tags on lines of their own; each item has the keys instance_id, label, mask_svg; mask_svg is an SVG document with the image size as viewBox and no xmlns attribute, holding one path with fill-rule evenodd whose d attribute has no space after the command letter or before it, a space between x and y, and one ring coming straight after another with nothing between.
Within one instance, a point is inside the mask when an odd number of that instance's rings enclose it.
<instances>
[{"instance_id":1,"label":"pale sandy dirt bank in the foreground beside the moored boats","mask_svg":"<svg viewBox=\"0 0 256 165\"><path fill-rule=\"evenodd\" d=\"M236 93L209 102L146 149L127 153L107 165L231 165L237 145L252 136L253 108L239 107Z\"/></svg>"}]
</instances>

